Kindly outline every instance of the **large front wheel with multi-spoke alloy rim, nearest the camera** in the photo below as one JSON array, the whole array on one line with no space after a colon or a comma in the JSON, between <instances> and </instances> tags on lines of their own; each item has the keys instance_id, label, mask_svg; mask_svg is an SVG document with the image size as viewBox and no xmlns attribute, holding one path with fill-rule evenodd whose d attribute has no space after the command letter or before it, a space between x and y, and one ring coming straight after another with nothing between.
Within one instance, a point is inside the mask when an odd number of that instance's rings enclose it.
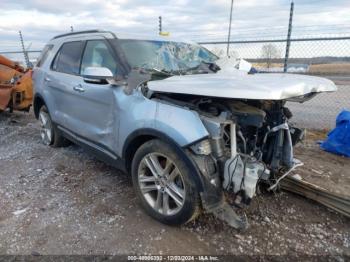
<instances>
[{"instance_id":1,"label":"large front wheel with multi-spoke alloy rim, nearest the camera","mask_svg":"<svg viewBox=\"0 0 350 262\"><path fill-rule=\"evenodd\" d=\"M169 144L155 139L140 146L131 172L136 195L151 217L181 225L199 214L200 199L190 169Z\"/></svg>"}]
</instances>

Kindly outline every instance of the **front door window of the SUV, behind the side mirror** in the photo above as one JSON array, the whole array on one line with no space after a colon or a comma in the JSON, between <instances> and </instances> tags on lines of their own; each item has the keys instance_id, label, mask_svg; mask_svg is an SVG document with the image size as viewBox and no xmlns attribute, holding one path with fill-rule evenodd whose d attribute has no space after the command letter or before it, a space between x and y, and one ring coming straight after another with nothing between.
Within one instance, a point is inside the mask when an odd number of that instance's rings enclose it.
<instances>
[{"instance_id":1,"label":"front door window of the SUV, behind the side mirror","mask_svg":"<svg viewBox=\"0 0 350 262\"><path fill-rule=\"evenodd\" d=\"M87 67L107 67L113 75L117 74L117 63L104 41L91 40L86 43L81 73Z\"/></svg>"}]
</instances>

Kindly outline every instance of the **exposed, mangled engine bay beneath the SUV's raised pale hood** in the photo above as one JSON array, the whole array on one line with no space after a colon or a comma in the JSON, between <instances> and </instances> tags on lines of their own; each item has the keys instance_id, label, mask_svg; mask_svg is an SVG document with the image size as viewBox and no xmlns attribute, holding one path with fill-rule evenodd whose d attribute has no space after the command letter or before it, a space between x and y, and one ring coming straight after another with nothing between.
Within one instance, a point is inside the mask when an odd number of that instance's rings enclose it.
<instances>
[{"instance_id":1,"label":"exposed, mangled engine bay beneath the SUV's raised pale hood","mask_svg":"<svg viewBox=\"0 0 350 262\"><path fill-rule=\"evenodd\" d=\"M283 100L164 93L153 94L153 98L198 112L210 137L191 149L212 159L219 183L233 196L235 206L249 205L258 186L273 189L279 174L300 165L293 158L293 146L304 132L289 125L292 113Z\"/></svg>"}]
</instances>

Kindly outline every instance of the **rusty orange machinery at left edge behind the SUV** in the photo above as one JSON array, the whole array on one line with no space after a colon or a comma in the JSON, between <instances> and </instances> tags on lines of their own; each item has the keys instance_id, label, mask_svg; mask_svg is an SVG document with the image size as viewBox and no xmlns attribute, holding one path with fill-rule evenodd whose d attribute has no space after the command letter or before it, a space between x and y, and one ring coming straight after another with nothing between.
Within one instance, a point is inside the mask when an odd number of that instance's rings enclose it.
<instances>
[{"instance_id":1,"label":"rusty orange machinery at left edge behind the SUV","mask_svg":"<svg viewBox=\"0 0 350 262\"><path fill-rule=\"evenodd\" d=\"M32 100L32 70L0 55L0 111L29 111Z\"/></svg>"}]
</instances>

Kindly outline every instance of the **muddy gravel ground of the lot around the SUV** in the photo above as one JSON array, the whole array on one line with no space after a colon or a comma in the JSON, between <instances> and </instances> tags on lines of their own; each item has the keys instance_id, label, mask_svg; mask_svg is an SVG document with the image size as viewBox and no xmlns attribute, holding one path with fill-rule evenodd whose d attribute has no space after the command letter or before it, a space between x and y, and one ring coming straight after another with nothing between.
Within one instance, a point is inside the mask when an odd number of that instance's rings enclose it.
<instances>
[{"instance_id":1,"label":"muddy gravel ground of the lot around the SUV","mask_svg":"<svg viewBox=\"0 0 350 262\"><path fill-rule=\"evenodd\" d=\"M144 214L128 175L78 146L44 146L38 128L32 114L0 114L0 254L350 255L350 220L287 192L257 197L244 233L211 215L162 225ZM349 183L349 159L310 141L297 156L305 172Z\"/></svg>"}]
</instances>

